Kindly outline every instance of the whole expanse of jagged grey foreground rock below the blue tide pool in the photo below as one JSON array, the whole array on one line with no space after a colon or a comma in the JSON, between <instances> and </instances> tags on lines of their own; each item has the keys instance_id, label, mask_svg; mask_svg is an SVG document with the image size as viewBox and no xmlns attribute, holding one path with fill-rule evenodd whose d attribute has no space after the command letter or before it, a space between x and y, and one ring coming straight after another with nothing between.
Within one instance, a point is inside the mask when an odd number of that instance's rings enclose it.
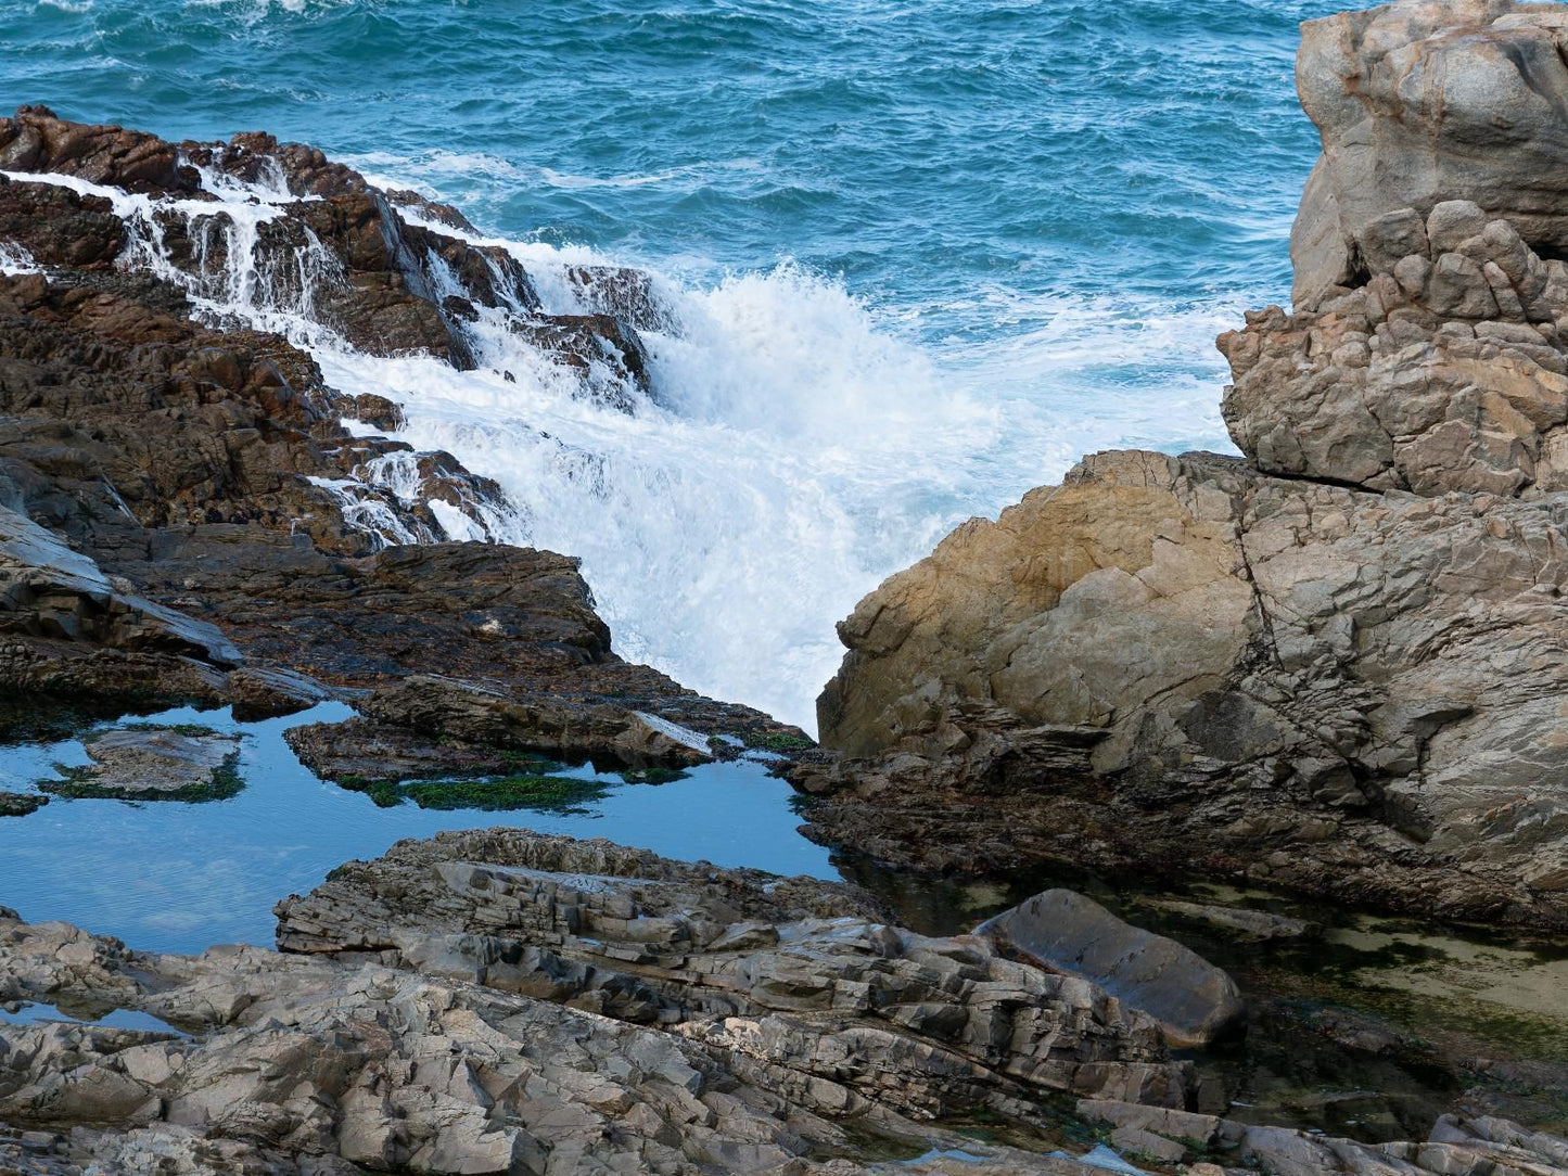
<instances>
[{"instance_id":1,"label":"whole expanse of jagged grey foreground rock below the blue tide pool","mask_svg":"<svg viewBox=\"0 0 1568 1176\"><path fill-rule=\"evenodd\" d=\"M0 1019L0 1165L1102 1171L933 1118L983 1112L1041 1148L1049 1091L1082 1093L1076 1116L1167 1170L1541 1176L1565 1159L1493 1116L1361 1145L1204 1113L1151 1018L983 938L884 924L842 884L494 829L405 842L278 911L285 953L201 956L0 911L0 1007L60 1010ZM140 1024L94 1024L110 1010Z\"/></svg>"}]
</instances>

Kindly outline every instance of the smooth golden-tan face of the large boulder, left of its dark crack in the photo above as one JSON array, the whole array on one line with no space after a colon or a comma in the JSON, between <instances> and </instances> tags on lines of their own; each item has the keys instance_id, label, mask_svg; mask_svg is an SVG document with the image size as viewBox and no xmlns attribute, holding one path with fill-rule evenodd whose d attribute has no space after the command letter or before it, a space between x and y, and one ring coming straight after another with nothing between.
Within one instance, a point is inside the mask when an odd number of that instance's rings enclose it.
<instances>
[{"instance_id":1,"label":"smooth golden-tan face of the large boulder, left of its dark crack","mask_svg":"<svg viewBox=\"0 0 1568 1176\"><path fill-rule=\"evenodd\" d=\"M949 695L1109 729L1218 685L1248 640L1236 521L1221 491L1184 500L1173 481L1159 455L1091 459L892 577L839 626L850 654L818 701L823 742L870 754L894 731L941 739Z\"/></svg>"}]
</instances>

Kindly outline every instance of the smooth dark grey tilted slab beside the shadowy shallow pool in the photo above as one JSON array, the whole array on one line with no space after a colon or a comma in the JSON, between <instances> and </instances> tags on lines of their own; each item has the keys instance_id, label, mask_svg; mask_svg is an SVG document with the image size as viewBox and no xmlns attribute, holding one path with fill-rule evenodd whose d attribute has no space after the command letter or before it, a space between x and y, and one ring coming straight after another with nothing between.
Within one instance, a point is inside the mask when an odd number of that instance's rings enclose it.
<instances>
[{"instance_id":1,"label":"smooth dark grey tilted slab beside the shadowy shallow pool","mask_svg":"<svg viewBox=\"0 0 1568 1176\"><path fill-rule=\"evenodd\" d=\"M1243 1011L1236 982L1221 969L1074 891L1036 894L975 935L1054 972L1094 982L1159 1021L1178 1047L1209 1044Z\"/></svg>"}]
</instances>

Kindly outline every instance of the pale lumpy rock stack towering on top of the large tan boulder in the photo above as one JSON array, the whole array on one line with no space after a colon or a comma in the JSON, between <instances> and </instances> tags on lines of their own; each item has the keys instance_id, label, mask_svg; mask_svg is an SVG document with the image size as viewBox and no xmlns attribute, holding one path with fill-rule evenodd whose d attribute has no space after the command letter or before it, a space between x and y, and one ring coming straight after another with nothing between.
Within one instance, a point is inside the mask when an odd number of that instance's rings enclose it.
<instances>
[{"instance_id":1,"label":"pale lumpy rock stack towering on top of the large tan boulder","mask_svg":"<svg viewBox=\"0 0 1568 1176\"><path fill-rule=\"evenodd\" d=\"M1568 28L1549 5L1400 0L1309 20L1323 154L1295 310L1220 337L1262 470L1410 489L1568 488Z\"/></svg>"}]
</instances>

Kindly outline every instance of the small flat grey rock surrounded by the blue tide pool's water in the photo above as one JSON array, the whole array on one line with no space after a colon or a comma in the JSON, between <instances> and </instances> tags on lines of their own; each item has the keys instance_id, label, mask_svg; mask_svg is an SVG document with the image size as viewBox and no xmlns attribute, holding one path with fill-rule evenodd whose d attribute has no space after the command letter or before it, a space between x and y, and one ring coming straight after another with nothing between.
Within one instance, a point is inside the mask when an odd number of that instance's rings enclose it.
<instances>
[{"instance_id":1,"label":"small flat grey rock surrounded by the blue tide pool's water","mask_svg":"<svg viewBox=\"0 0 1568 1176\"><path fill-rule=\"evenodd\" d=\"M85 742L91 765L41 787L64 797L220 800L238 792L240 737L177 728L122 728Z\"/></svg>"}]
</instances>

